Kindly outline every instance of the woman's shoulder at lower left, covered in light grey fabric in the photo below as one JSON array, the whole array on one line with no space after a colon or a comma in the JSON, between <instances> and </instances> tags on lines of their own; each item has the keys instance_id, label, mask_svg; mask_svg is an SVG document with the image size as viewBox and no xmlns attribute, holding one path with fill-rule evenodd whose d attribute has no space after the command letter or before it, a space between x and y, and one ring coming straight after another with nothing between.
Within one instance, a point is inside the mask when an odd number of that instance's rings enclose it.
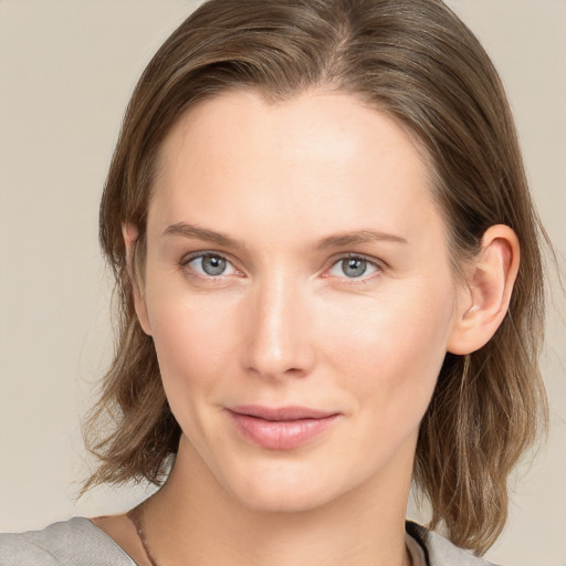
<instances>
[{"instance_id":1,"label":"woman's shoulder at lower left, covered in light grey fabric","mask_svg":"<svg viewBox=\"0 0 566 566\"><path fill-rule=\"evenodd\" d=\"M0 534L0 566L135 566L134 560L85 517L42 531Z\"/></svg>"}]
</instances>

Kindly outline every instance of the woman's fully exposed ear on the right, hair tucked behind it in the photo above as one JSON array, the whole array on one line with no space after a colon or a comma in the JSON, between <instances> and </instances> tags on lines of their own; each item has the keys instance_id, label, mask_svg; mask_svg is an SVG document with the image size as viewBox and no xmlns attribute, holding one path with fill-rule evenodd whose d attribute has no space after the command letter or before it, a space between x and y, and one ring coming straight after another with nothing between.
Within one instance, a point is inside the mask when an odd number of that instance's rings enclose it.
<instances>
[{"instance_id":1,"label":"woman's fully exposed ear on the right, hair tucked behind it","mask_svg":"<svg viewBox=\"0 0 566 566\"><path fill-rule=\"evenodd\" d=\"M482 249L467 270L468 285L462 290L448 352L471 354L495 334L507 313L520 264L520 245L507 226L489 228Z\"/></svg>"}]
</instances>

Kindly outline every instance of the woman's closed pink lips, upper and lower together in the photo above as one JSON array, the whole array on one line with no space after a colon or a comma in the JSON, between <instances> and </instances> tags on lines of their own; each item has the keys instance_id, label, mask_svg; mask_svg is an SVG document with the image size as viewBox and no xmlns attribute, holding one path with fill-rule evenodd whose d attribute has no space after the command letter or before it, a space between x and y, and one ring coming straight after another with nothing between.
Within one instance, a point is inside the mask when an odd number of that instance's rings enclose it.
<instances>
[{"instance_id":1,"label":"woman's closed pink lips, upper and lower together","mask_svg":"<svg viewBox=\"0 0 566 566\"><path fill-rule=\"evenodd\" d=\"M239 432L268 450L292 450L322 434L338 412L308 407L239 406L228 409Z\"/></svg>"}]
</instances>

